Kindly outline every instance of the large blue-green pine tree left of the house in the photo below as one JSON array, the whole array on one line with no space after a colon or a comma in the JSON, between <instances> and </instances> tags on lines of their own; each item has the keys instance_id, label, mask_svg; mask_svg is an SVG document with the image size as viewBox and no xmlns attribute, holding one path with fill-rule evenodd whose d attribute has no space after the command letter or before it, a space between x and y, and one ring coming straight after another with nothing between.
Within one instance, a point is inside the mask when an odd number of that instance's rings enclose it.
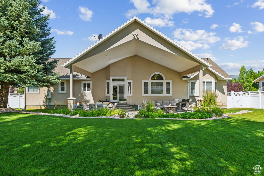
<instances>
[{"instance_id":1,"label":"large blue-green pine tree left of the house","mask_svg":"<svg viewBox=\"0 0 264 176\"><path fill-rule=\"evenodd\" d=\"M49 61L55 42L49 15L39 0L0 1L0 108L7 107L9 86L49 87L59 82L57 61Z\"/></svg>"}]
</instances>

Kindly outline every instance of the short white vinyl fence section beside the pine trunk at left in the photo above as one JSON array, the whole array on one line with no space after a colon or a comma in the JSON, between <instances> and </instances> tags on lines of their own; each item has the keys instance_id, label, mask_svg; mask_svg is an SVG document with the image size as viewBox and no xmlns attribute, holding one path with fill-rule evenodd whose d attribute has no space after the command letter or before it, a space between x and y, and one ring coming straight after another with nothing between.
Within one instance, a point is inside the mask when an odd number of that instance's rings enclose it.
<instances>
[{"instance_id":1,"label":"short white vinyl fence section beside the pine trunk at left","mask_svg":"<svg viewBox=\"0 0 264 176\"><path fill-rule=\"evenodd\" d=\"M24 94L22 93L9 93L7 108L19 108L24 109Z\"/></svg>"}]
</instances>

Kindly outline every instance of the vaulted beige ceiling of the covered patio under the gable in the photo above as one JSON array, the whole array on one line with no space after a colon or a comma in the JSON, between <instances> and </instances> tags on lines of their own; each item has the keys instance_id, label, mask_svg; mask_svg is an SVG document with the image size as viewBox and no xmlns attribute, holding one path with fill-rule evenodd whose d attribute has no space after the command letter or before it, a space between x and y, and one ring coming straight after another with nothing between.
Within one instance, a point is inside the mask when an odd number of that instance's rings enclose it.
<instances>
[{"instance_id":1,"label":"vaulted beige ceiling of the covered patio under the gable","mask_svg":"<svg viewBox=\"0 0 264 176\"><path fill-rule=\"evenodd\" d=\"M186 59L172 51L163 50L144 41L133 39L89 58L82 58L81 61L73 65L93 73L111 63L134 55L141 56L180 73L200 64L194 59Z\"/></svg>"}]
</instances>

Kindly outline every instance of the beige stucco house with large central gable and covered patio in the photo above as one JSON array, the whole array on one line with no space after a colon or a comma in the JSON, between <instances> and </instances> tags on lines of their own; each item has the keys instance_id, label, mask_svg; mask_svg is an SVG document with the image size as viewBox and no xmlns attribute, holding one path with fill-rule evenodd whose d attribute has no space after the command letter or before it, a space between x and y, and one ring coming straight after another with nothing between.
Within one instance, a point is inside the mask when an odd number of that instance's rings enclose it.
<instances>
[{"instance_id":1,"label":"beige stucco house with large central gable and covered patio","mask_svg":"<svg viewBox=\"0 0 264 176\"><path fill-rule=\"evenodd\" d=\"M209 58L200 58L138 17L133 17L73 58L58 59L61 82L51 88L26 88L26 108L73 103L191 98L217 91L227 106L227 79ZM50 96L50 98L47 98Z\"/></svg>"}]
</instances>

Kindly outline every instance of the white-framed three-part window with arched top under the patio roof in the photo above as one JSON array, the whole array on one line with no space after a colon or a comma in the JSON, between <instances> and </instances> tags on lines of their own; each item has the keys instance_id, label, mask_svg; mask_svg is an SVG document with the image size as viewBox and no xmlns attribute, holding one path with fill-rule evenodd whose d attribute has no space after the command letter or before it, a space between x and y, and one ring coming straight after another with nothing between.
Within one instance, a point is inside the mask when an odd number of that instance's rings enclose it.
<instances>
[{"instance_id":1,"label":"white-framed three-part window with arched top under the patio roof","mask_svg":"<svg viewBox=\"0 0 264 176\"><path fill-rule=\"evenodd\" d=\"M164 75L155 72L149 80L142 81L142 96L172 96L172 80L166 80Z\"/></svg>"}]
</instances>

